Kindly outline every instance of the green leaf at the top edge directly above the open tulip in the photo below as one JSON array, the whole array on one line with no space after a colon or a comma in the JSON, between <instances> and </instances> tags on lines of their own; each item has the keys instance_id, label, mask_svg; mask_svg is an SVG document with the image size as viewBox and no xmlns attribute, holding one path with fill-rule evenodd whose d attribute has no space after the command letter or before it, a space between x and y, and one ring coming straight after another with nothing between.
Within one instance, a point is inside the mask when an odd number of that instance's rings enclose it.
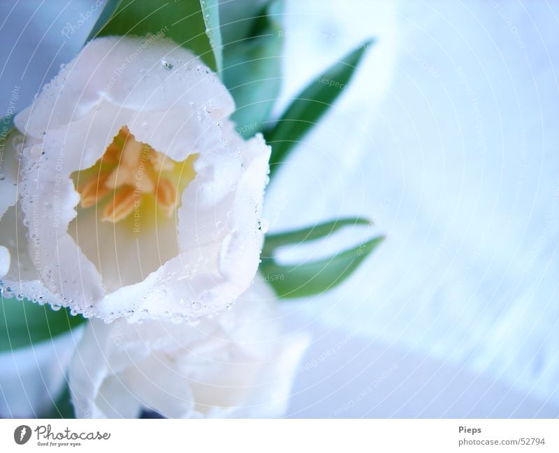
<instances>
[{"instance_id":1,"label":"green leaf at the top edge directly above the open tulip","mask_svg":"<svg viewBox=\"0 0 559 453\"><path fill-rule=\"evenodd\" d=\"M217 69L198 0L122 0L97 36L166 36Z\"/></svg>"}]
</instances>

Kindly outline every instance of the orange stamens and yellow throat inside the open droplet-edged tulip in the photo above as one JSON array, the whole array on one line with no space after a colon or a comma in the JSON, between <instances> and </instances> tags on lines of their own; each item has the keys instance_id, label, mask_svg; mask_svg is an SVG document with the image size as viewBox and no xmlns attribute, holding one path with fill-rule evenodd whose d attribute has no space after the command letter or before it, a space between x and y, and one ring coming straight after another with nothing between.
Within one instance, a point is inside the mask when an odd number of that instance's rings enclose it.
<instances>
[{"instance_id":1,"label":"orange stamens and yellow throat inside the open droplet-edged tulip","mask_svg":"<svg viewBox=\"0 0 559 453\"><path fill-rule=\"evenodd\" d=\"M151 199L166 216L173 216L178 195L196 176L197 157L191 154L185 161L173 161L149 144L138 142L123 126L99 161L72 175L80 206L94 207L107 199L101 221L117 223Z\"/></svg>"}]
</instances>

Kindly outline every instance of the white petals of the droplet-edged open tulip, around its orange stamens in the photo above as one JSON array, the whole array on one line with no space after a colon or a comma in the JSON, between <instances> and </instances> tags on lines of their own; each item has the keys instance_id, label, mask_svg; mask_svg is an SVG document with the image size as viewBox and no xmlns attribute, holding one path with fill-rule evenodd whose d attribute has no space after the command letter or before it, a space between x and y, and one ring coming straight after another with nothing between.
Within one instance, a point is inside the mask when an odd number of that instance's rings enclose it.
<instances>
[{"instance_id":1,"label":"white petals of the droplet-edged open tulip, around its orange stamens","mask_svg":"<svg viewBox=\"0 0 559 453\"><path fill-rule=\"evenodd\" d=\"M261 136L235 133L233 109L217 77L169 40L97 39L62 68L15 119L26 135L26 245L48 302L104 320L186 319L221 311L248 288L270 149ZM135 217L137 231L102 221L96 205L78 207L71 177L92 168L124 126L160 160L196 155L176 216Z\"/></svg>"}]
</instances>

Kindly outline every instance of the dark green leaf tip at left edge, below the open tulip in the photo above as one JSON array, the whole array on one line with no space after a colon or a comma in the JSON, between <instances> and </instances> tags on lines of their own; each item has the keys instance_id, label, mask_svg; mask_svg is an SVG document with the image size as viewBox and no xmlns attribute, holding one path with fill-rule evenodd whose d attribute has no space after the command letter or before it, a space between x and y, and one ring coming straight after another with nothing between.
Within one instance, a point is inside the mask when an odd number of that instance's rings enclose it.
<instances>
[{"instance_id":1,"label":"dark green leaf tip at left edge, below the open tulip","mask_svg":"<svg viewBox=\"0 0 559 453\"><path fill-rule=\"evenodd\" d=\"M71 316L66 309L54 311L48 305L0 297L0 351L25 348L85 321L80 315Z\"/></svg>"}]
</instances>

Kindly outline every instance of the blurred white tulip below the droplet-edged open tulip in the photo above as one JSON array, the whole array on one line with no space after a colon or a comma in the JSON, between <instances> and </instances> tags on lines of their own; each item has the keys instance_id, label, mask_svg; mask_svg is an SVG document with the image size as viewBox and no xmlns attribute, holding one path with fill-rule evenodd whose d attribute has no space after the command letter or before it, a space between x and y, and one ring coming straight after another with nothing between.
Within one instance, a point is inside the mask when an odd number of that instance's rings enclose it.
<instances>
[{"instance_id":1,"label":"blurred white tulip below the droplet-edged open tulip","mask_svg":"<svg viewBox=\"0 0 559 453\"><path fill-rule=\"evenodd\" d=\"M286 336L258 281L196 325L93 320L70 368L77 417L280 417L308 339Z\"/></svg>"}]
</instances>

